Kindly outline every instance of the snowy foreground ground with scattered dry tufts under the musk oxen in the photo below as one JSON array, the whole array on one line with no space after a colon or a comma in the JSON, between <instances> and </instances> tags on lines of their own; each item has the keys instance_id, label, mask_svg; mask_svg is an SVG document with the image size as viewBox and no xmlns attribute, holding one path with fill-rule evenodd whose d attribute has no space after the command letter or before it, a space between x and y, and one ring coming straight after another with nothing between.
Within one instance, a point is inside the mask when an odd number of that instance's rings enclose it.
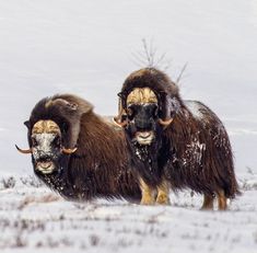
<instances>
[{"instance_id":1,"label":"snowy foreground ground with scattered dry tufts under the musk oxen","mask_svg":"<svg viewBox=\"0 0 257 253\"><path fill-rule=\"evenodd\" d=\"M190 192L171 194L171 206L69 203L33 177L5 175L0 251L256 253L257 174L250 173L240 181L243 196L223 212L200 211L201 197Z\"/></svg>"}]
</instances>

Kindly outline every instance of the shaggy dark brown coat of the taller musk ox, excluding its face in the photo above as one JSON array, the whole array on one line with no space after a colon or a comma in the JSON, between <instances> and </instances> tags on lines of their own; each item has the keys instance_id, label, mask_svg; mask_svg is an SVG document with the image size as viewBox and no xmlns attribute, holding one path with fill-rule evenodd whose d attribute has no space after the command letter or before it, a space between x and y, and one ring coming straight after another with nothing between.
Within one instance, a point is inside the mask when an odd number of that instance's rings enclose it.
<instances>
[{"instance_id":1,"label":"shaggy dark brown coat of the taller musk ox, excluding its face","mask_svg":"<svg viewBox=\"0 0 257 253\"><path fill-rule=\"evenodd\" d=\"M144 87L159 99L159 118L173 118L167 127L161 127L155 120L153 129L159 138L150 146L140 146L132 140L131 129L137 126L127 114L127 96L135 88ZM205 195L203 208L213 208L213 196L217 195L219 209L225 209L226 198L234 198L240 191L229 136L217 115L200 102L183 101L176 84L153 68L130 74L119 97L122 105L119 122L128 120L125 131L131 165L143 182L157 187L165 179L175 191L191 188Z\"/></svg>"}]
</instances>

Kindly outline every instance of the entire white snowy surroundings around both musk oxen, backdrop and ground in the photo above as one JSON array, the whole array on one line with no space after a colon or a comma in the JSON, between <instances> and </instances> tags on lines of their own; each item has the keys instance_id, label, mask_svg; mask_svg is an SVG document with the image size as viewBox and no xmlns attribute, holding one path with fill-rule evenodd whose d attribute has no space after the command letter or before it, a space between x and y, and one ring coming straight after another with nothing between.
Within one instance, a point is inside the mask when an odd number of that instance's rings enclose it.
<instances>
[{"instance_id":1,"label":"entire white snowy surroundings around both musk oxen, backdrop and ground","mask_svg":"<svg viewBox=\"0 0 257 253\"><path fill-rule=\"evenodd\" d=\"M0 38L1 252L257 252L256 0L1 0ZM56 199L14 148L26 148L23 122L44 96L71 92L116 114L122 81L144 67L142 38L174 80L187 62L183 97L229 130L243 196L226 212L199 211L189 192L170 207Z\"/></svg>"}]
</instances>

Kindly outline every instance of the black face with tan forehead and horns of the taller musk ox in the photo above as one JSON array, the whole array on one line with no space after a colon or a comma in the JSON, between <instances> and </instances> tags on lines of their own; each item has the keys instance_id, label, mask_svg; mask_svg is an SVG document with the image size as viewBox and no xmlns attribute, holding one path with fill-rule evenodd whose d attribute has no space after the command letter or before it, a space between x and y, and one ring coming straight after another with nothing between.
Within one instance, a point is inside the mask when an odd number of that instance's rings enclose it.
<instances>
[{"instance_id":1,"label":"black face with tan forehead and horns of the taller musk ox","mask_svg":"<svg viewBox=\"0 0 257 253\"><path fill-rule=\"evenodd\" d=\"M156 94L150 88L135 88L126 97L120 108L121 123L129 139L141 146L149 146L156 140L156 135L170 125L173 118L162 119L163 112Z\"/></svg>"}]
</instances>

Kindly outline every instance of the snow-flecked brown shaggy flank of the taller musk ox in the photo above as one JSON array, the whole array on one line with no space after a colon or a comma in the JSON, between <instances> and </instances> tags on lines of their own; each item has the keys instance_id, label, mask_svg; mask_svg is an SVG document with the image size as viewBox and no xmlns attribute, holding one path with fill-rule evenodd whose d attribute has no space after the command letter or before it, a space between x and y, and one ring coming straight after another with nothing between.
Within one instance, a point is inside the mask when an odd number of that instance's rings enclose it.
<instances>
[{"instance_id":1,"label":"snow-flecked brown shaggy flank of the taller musk ox","mask_svg":"<svg viewBox=\"0 0 257 253\"><path fill-rule=\"evenodd\" d=\"M175 188L190 187L208 195L224 189L225 196L233 198L238 191L225 128L214 113L199 102L202 116L197 118L189 103L195 106L195 102L189 101L182 104L174 122L163 133L172 154L164 173Z\"/></svg>"}]
</instances>

